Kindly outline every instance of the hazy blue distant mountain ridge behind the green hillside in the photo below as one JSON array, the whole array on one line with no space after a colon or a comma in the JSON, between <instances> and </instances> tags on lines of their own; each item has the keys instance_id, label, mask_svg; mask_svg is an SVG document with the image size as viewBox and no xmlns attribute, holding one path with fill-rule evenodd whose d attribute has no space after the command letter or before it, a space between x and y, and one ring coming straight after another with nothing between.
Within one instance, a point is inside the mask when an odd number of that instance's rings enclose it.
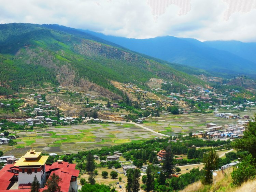
<instances>
[{"instance_id":1,"label":"hazy blue distant mountain ridge behind the green hillside","mask_svg":"<svg viewBox=\"0 0 256 192\"><path fill-rule=\"evenodd\" d=\"M162 36L128 39L88 31L95 36L138 53L223 75L256 77L256 43L237 41L200 42L190 38Z\"/></svg>"}]
</instances>

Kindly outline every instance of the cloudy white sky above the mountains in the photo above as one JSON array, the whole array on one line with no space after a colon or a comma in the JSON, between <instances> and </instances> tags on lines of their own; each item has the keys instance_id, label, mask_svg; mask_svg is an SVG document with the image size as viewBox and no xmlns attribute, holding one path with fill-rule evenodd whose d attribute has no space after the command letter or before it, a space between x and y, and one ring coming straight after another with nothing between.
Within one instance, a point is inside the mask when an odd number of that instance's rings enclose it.
<instances>
[{"instance_id":1,"label":"cloudy white sky above the mountains","mask_svg":"<svg viewBox=\"0 0 256 192\"><path fill-rule=\"evenodd\" d=\"M128 38L256 42L255 0L0 0L0 23L59 24Z\"/></svg>"}]
</instances>

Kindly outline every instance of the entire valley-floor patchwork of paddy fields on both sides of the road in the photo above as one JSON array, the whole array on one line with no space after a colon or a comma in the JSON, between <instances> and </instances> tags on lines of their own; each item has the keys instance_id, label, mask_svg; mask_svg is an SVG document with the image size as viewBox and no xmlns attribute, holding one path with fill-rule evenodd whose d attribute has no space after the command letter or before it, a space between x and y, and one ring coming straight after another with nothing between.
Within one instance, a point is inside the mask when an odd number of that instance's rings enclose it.
<instances>
[{"instance_id":1,"label":"entire valley-floor patchwork of paddy fields on both sides of the road","mask_svg":"<svg viewBox=\"0 0 256 192\"><path fill-rule=\"evenodd\" d=\"M253 117L255 108L247 111L226 111L235 115L249 115ZM206 130L206 123L217 125L236 124L237 119L215 117L213 114L182 114L148 118L143 122L144 127L166 135L198 132ZM134 124L81 124L48 128L34 128L33 130L8 130L15 135L18 143L14 146L0 145L4 155L13 154L16 157L24 155L31 147L44 153L77 153L78 151L108 147L123 143L140 143L146 139L159 135L137 127Z\"/></svg>"}]
</instances>

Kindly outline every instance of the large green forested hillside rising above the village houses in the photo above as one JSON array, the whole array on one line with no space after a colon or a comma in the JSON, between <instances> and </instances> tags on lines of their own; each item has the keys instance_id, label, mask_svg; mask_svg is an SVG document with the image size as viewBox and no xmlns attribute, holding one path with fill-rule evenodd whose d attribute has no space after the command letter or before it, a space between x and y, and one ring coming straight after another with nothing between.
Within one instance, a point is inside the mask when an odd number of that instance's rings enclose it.
<instances>
[{"instance_id":1,"label":"large green forested hillside rising above the village houses","mask_svg":"<svg viewBox=\"0 0 256 192\"><path fill-rule=\"evenodd\" d=\"M58 25L0 25L0 94L44 82L80 85L89 80L114 93L110 81L145 86L150 78L204 85L197 77L145 58L113 43Z\"/></svg>"}]
</instances>

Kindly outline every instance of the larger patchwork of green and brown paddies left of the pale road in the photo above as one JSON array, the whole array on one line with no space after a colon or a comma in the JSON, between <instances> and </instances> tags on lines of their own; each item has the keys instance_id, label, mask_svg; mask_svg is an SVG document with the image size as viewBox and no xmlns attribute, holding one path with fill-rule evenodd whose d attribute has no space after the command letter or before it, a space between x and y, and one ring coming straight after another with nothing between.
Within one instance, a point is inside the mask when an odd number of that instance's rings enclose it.
<instances>
[{"instance_id":1,"label":"larger patchwork of green and brown paddies left of the pale road","mask_svg":"<svg viewBox=\"0 0 256 192\"><path fill-rule=\"evenodd\" d=\"M158 136L133 124L81 124L48 128L34 128L26 131L9 130L18 144L0 145L4 155L13 154L17 158L31 147L43 153L77 153L104 146L128 142L142 142Z\"/></svg>"}]
</instances>

